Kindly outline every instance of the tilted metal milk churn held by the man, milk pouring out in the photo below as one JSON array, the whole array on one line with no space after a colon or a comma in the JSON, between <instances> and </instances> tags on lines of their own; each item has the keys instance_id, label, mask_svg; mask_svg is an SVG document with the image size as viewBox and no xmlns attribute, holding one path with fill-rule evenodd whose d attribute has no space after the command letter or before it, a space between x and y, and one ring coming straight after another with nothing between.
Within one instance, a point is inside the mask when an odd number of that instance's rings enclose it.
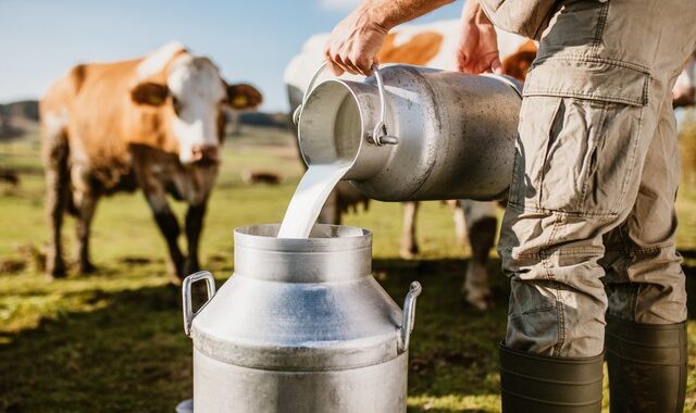
<instances>
[{"instance_id":1,"label":"tilted metal milk churn held by the man, milk pouring out","mask_svg":"<svg viewBox=\"0 0 696 413\"><path fill-rule=\"evenodd\" d=\"M313 88L322 68L294 114L308 165L348 162L344 179L382 201L505 197L518 80L398 64Z\"/></svg>"}]
</instances>

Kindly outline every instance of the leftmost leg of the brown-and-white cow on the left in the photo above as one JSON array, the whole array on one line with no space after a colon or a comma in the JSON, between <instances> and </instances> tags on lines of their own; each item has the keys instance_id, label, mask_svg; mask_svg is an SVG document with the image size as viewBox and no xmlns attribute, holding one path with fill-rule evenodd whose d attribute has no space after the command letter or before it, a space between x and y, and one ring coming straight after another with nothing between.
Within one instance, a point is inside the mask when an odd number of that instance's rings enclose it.
<instances>
[{"instance_id":1,"label":"leftmost leg of the brown-and-white cow on the left","mask_svg":"<svg viewBox=\"0 0 696 413\"><path fill-rule=\"evenodd\" d=\"M46 254L46 274L50 278L65 276L65 261L61 229L63 212L70 197L69 147L64 137L48 137L45 141L44 163L46 165L46 212L51 237Z\"/></svg>"}]
</instances>

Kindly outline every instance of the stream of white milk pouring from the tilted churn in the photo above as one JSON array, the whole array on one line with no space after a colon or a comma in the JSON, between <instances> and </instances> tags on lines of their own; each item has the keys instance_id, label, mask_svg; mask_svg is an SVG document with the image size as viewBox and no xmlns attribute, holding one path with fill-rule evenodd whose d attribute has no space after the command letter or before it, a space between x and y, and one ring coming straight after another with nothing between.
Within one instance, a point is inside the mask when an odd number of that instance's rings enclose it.
<instances>
[{"instance_id":1,"label":"stream of white milk pouring from the tilted churn","mask_svg":"<svg viewBox=\"0 0 696 413\"><path fill-rule=\"evenodd\" d=\"M310 165L285 211L278 238L309 237L326 198L349 168L347 163Z\"/></svg>"}]
</instances>

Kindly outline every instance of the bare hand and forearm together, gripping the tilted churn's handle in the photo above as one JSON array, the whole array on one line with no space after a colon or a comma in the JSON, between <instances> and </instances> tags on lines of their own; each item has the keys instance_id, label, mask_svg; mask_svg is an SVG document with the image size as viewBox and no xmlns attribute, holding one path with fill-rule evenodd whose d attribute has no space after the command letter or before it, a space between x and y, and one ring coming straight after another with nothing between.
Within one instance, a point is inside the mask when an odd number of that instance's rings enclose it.
<instances>
[{"instance_id":1,"label":"bare hand and forearm together, gripping the tilted churn's handle","mask_svg":"<svg viewBox=\"0 0 696 413\"><path fill-rule=\"evenodd\" d=\"M336 76L372 74L387 33L453 0L365 0L332 32L324 54ZM471 1L471 0L470 0Z\"/></svg>"}]
</instances>

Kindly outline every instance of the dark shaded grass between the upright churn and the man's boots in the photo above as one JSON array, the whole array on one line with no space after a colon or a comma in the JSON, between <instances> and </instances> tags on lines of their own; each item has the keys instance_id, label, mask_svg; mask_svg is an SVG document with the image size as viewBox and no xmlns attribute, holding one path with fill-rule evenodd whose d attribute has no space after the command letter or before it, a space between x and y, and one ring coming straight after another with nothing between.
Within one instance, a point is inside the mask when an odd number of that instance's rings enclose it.
<instances>
[{"instance_id":1,"label":"dark shaded grass between the upright churn and the man's boots","mask_svg":"<svg viewBox=\"0 0 696 413\"><path fill-rule=\"evenodd\" d=\"M373 263L375 276L399 304L411 280L423 285L411 339L409 397L447 400L452 395L498 393L497 341L505 334L507 280L500 274L500 261L492 260L488 270L495 308L477 311L465 303L461 293L465 264L464 260L453 259ZM443 409L428 404L426 401L422 408L409 411L462 411L461 405ZM478 411L497 409L494 403Z\"/></svg>"}]
</instances>

